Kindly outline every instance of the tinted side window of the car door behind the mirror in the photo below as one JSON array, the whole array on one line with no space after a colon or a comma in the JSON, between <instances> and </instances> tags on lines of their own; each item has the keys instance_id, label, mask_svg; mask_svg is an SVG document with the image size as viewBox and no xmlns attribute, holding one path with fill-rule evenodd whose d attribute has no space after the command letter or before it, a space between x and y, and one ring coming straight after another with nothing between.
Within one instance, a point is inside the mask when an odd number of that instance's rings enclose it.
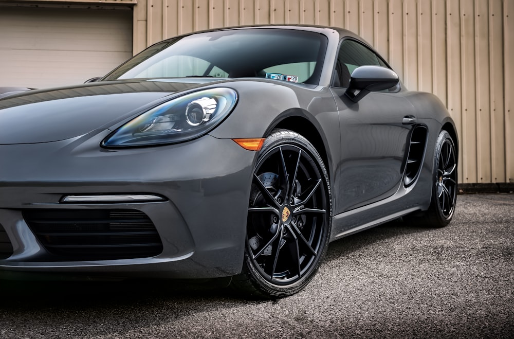
<instances>
[{"instance_id":1,"label":"tinted side window of the car door behind the mirror","mask_svg":"<svg viewBox=\"0 0 514 339\"><path fill-rule=\"evenodd\" d=\"M348 87L350 75L355 68L364 65L387 65L375 52L368 47L353 40L344 40L337 56L336 73L334 75L335 87Z\"/></svg>"}]
</instances>

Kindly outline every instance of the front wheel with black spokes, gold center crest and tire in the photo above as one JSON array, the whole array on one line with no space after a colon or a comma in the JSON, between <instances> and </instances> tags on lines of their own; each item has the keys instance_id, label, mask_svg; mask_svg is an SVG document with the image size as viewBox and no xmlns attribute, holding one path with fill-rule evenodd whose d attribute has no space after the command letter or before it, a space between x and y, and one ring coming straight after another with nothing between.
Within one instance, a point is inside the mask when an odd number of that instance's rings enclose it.
<instances>
[{"instance_id":1,"label":"front wheel with black spokes, gold center crest and tire","mask_svg":"<svg viewBox=\"0 0 514 339\"><path fill-rule=\"evenodd\" d=\"M274 130L253 172L243 271L233 287L258 298L302 290L325 255L331 222L330 186L318 152L300 134Z\"/></svg>"}]
</instances>

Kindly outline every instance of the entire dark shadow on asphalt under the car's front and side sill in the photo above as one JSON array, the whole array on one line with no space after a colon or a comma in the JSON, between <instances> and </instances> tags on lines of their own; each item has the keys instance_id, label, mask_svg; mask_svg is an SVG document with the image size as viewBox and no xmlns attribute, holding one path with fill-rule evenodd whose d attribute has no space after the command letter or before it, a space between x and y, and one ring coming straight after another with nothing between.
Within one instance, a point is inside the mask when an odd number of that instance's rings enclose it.
<instances>
[{"instance_id":1,"label":"entire dark shadow on asphalt under the car's front and side sill","mask_svg":"<svg viewBox=\"0 0 514 339\"><path fill-rule=\"evenodd\" d=\"M358 254L367 245L428 230L401 220L383 224L331 243L325 260L344 260L346 255ZM229 314L247 307L268 310L272 304L282 302L244 298L226 288L227 282L0 280L0 319L6 328L58 328L64 324L92 333L103 324L121 322L125 324L122 332L128 333L149 326L180 324L181 319L225 312L222 310ZM30 319L29 323L26 319ZM122 333L108 328L104 331L115 336Z\"/></svg>"}]
</instances>

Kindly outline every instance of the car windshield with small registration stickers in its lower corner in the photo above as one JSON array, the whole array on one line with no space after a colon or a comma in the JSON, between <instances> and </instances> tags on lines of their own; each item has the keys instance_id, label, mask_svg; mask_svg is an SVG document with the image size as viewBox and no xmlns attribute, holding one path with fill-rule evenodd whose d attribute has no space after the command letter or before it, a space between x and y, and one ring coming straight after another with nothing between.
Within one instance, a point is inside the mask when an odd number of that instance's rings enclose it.
<instances>
[{"instance_id":1,"label":"car windshield with small registration stickers in its lower corner","mask_svg":"<svg viewBox=\"0 0 514 339\"><path fill-rule=\"evenodd\" d=\"M317 84L326 44L320 33L294 29L196 33L149 47L103 80L267 77Z\"/></svg>"}]
</instances>

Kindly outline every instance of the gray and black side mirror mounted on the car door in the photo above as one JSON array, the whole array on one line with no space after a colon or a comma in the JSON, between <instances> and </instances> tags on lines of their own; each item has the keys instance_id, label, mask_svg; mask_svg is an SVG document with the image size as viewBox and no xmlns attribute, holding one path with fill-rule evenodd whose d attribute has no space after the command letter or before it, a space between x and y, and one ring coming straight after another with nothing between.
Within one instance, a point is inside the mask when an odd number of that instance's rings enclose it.
<instances>
[{"instance_id":1,"label":"gray and black side mirror mounted on the car door","mask_svg":"<svg viewBox=\"0 0 514 339\"><path fill-rule=\"evenodd\" d=\"M344 94L353 102L370 92L383 91L398 84L398 75L382 66L360 66L350 76L350 85Z\"/></svg>"}]
</instances>

